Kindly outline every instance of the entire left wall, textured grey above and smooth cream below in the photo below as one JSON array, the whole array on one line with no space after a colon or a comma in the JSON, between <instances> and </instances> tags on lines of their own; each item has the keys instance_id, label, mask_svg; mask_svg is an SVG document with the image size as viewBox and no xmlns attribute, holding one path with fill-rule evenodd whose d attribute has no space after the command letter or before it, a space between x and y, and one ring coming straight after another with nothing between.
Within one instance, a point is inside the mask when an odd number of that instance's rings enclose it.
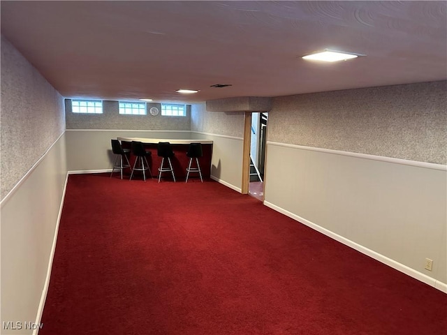
<instances>
[{"instance_id":1,"label":"entire left wall, textured grey above and smooth cream below","mask_svg":"<svg viewBox=\"0 0 447 335\"><path fill-rule=\"evenodd\" d=\"M2 322L40 319L66 181L64 127L60 94L2 36ZM31 332L4 329L1 334Z\"/></svg>"}]
</instances>

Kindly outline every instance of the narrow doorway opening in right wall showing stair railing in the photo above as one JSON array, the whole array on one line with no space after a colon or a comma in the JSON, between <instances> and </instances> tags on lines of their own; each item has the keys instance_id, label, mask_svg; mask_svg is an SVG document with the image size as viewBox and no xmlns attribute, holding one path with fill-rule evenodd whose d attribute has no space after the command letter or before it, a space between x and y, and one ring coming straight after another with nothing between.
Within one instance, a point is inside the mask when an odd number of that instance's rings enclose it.
<instances>
[{"instance_id":1,"label":"narrow doorway opening in right wall showing stair railing","mask_svg":"<svg viewBox=\"0 0 447 335\"><path fill-rule=\"evenodd\" d=\"M268 112L251 113L249 195L264 200L265 141Z\"/></svg>"}]
</instances>

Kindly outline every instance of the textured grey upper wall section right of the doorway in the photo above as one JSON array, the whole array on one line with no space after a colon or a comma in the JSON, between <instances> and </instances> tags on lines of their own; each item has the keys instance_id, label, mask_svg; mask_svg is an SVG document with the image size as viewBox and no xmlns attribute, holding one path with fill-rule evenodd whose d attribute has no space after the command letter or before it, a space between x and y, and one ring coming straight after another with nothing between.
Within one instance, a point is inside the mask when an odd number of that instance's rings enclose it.
<instances>
[{"instance_id":1,"label":"textured grey upper wall section right of the doorway","mask_svg":"<svg viewBox=\"0 0 447 335\"><path fill-rule=\"evenodd\" d=\"M447 81L274 98L268 140L447 164Z\"/></svg>"}]
</instances>

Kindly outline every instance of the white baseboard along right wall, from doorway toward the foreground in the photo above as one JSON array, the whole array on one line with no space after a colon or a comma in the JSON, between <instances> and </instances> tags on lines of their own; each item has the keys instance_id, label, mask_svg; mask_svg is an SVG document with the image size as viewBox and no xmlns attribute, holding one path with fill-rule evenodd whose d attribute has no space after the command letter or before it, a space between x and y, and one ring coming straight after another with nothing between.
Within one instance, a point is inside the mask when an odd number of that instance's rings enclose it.
<instances>
[{"instance_id":1,"label":"white baseboard along right wall, from doorway toward the foreground","mask_svg":"<svg viewBox=\"0 0 447 335\"><path fill-rule=\"evenodd\" d=\"M331 232L330 230L323 228L320 225L316 225L315 223L312 223L311 221L308 221L305 218L302 218L301 216L293 214L291 211L287 211L286 209L278 207L277 205L272 204L271 202L264 200L264 204L265 206L270 207L275 211L279 211L279 213L284 214L289 218L293 218L294 220L302 223L303 225L307 225L308 227L316 230L317 232L321 232L322 234L325 234L326 236L335 239L336 241L339 241L340 243L349 246L355 249L356 251L363 253L364 255L374 258L374 260L378 260L379 262L388 265L389 267L393 267L393 269L396 269L397 271L403 272L404 274L411 276L417 279L418 281L422 281L427 285L437 288L437 290L447 293L446 283L437 281L436 279L427 276L426 274L416 271L415 269L411 269L411 267L407 267L406 265L403 265L400 262L396 262L395 260L392 260L384 255L381 255L380 253L376 253L376 251L372 251L371 249L366 248L365 246L361 246L360 244L357 244L356 242L351 241L350 239L346 239L346 237L342 237L341 235L336 234L335 232Z\"/></svg>"}]
</instances>

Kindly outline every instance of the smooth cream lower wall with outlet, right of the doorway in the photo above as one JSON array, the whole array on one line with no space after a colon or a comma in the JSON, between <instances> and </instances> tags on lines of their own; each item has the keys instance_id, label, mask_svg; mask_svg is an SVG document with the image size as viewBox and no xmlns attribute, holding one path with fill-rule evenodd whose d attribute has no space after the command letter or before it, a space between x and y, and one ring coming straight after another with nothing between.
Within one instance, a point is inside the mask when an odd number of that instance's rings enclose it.
<instances>
[{"instance_id":1,"label":"smooth cream lower wall with outlet, right of the doorway","mask_svg":"<svg viewBox=\"0 0 447 335\"><path fill-rule=\"evenodd\" d=\"M265 204L447 292L446 166L351 155L268 142Z\"/></svg>"}]
</instances>

